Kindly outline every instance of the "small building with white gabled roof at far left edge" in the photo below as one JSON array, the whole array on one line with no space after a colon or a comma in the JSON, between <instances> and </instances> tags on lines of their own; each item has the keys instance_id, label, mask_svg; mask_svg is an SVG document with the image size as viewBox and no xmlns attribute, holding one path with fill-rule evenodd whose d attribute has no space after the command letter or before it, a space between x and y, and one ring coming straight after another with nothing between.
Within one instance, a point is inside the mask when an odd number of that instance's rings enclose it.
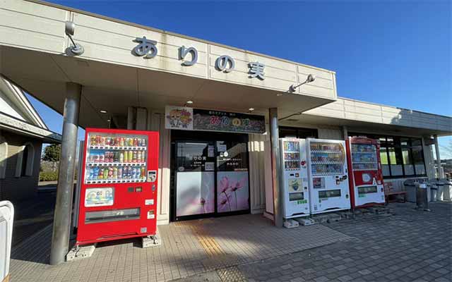
<instances>
[{"instance_id":1,"label":"small building with white gabled roof at far left edge","mask_svg":"<svg viewBox=\"0 0 452 282\"><path fill-rule=\"evenodd\" d=\"M43 142L61 142L25 94L0 76L0 200L16 204L34 197Z\"/></svg>"}]
</instances>

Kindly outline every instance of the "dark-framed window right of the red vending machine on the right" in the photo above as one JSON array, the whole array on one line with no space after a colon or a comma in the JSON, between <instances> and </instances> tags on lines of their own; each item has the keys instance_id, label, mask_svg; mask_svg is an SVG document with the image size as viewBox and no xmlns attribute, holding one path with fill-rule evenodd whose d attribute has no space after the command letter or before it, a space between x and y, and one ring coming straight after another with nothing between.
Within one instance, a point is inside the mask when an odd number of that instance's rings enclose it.
<instances>
[{"instance_id":1,"label":"dark-framed window right of the red vending machine on the right","mask_svg":"<svg viewBox=\"0 0 452 282\"><path fill-rule=\"evenodd\" d=\"M380 140L381 171L385 178L425 176L424 151L420 138L349 133Z\"/></svg>"}]
</instances>

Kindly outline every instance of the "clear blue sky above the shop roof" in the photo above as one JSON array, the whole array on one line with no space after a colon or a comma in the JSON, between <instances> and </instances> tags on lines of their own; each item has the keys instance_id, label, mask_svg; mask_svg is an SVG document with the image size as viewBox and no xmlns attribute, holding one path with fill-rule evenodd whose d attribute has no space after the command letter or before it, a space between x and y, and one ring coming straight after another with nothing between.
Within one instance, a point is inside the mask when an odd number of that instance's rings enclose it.
<instances>
[{"instance_id":1,"label":"clear blue sky above the shop roof","mask_svg":"<svg viewBox=\"0 0 452 282\"><path fill-rule=\"evenodd\" d=\"M52 2L326 68L340 97L452 116L451 1Z\"/></svg>"}]
</instances>

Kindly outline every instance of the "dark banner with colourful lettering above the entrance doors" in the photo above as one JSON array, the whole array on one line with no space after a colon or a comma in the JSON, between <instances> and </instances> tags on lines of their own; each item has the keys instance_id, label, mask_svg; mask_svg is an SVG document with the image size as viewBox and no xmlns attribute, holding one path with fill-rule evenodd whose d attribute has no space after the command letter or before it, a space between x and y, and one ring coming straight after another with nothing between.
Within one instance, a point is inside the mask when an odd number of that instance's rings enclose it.
<instances>
[{"instance_id":1,"label":"dark banner with colourful lettering above the entrance doors","mask_svg":"<svg viewBox=\"0 0 452 282\"><path fill-rule=\"evenodd\" d=\"M165 128L263 134L266 121L258 115L166 106Z\"/></svg>"}]
</instances>

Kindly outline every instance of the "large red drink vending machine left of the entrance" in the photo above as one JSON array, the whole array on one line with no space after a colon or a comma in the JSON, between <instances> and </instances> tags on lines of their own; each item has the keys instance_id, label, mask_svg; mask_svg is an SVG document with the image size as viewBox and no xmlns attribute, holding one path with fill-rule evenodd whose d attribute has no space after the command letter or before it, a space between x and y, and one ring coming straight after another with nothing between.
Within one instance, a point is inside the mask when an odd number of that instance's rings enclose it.
<instances>
[{"instance_id":1,"label":"large red drink vending machine left of the entrance","mask_svg":"<svg viewBox=\"0 0 452 282\"><path fill-rule=\"evenodd\" d=\"M155 235L158 133L86 128L76 245Z\"/></svg>"}]
</instances>

